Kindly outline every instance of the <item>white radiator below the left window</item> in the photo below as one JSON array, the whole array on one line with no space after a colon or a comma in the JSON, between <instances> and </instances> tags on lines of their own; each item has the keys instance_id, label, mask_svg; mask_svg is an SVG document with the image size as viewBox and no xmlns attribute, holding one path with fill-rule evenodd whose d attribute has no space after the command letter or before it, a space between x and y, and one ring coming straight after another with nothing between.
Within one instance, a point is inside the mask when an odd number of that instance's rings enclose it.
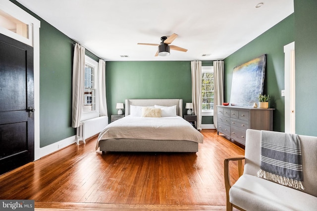
<instances>
[{"instance_id":1,"label":"white radiator below the left window","mask_svg":"<svg viewBox=\"0 0 317 211\"><path fill-rule=\"evenodd\" d=\"M102 116L80 122L77 127L77 144L86 143L86 139L100 133L108 125L108 117Z\"/></svg>"}]
</instances>

